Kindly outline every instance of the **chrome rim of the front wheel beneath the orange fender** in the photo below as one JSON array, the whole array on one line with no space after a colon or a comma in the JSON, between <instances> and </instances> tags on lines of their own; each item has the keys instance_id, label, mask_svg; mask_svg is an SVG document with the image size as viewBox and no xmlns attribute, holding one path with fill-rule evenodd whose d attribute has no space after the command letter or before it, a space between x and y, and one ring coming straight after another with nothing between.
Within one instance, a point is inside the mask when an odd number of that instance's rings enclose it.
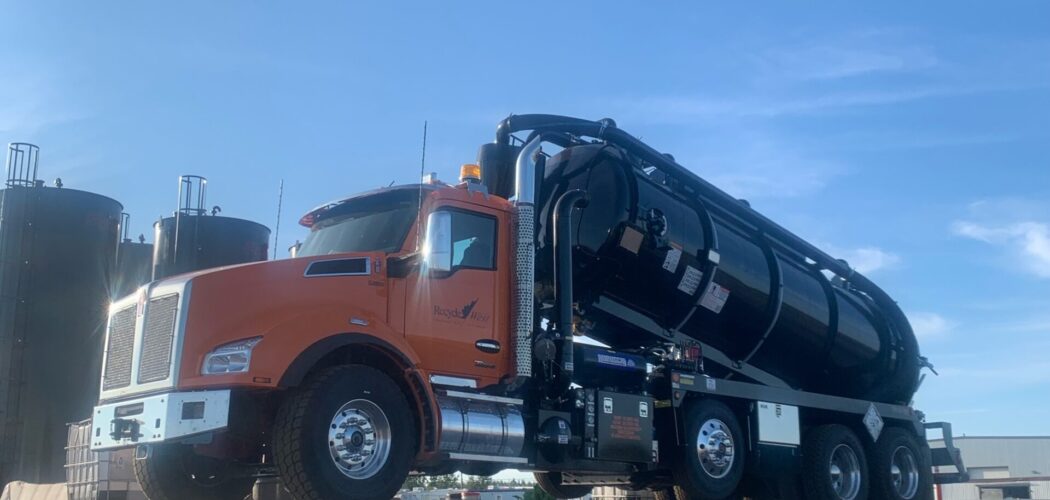
<instances>
[{"instance_id":1,"label":"chrome rim of the front wheel beneath the orange fender","mask_svg":"<svg viewBox=\"0 0 1050 500\"><path fill-rule=\"evenodd\" d=\"M386 464L391 424L386 414L368 399L343 404L329 426L332 461L351 479L368 479Z\"/></svg>"}]
</instances>

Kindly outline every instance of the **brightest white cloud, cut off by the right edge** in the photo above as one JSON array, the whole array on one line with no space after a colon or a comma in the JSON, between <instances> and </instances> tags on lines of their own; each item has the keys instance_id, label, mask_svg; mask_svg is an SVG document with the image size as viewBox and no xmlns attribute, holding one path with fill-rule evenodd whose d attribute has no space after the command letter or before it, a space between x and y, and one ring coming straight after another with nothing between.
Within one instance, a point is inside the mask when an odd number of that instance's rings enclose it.
<instances>
[{"instance_id":1,"label":"brightest white cloud, cut off by the right edge","mask_svg":"<svg viewBox=\"0 0 1050 500\"><path fill-rule=\"evenodd\" d=\"M1050 278L1050 226L1025 221L1007 225L984 225L968 221L952 224L960 236L1005 248L1023 269L1041 278Z\"/></svg>"}]
</instances>

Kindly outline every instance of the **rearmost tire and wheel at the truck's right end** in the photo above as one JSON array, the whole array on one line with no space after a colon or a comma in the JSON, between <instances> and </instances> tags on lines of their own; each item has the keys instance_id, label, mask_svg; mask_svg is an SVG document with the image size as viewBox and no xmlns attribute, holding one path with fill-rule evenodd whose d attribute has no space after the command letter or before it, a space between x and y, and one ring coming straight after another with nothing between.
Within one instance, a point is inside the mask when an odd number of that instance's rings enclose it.
<instances>
[{"instance_id":1,"label":"rearmost tire and wheel at the truck's right end","mask_svg":"<svg viewBox=\"0 0 1050 500\"><path fill-rule=\"evenodd\" d=\"M927 500L933 492L933 471L928 450L915 435L886 428L872 454L873 498Z\"/></svg>"}]
</instances>

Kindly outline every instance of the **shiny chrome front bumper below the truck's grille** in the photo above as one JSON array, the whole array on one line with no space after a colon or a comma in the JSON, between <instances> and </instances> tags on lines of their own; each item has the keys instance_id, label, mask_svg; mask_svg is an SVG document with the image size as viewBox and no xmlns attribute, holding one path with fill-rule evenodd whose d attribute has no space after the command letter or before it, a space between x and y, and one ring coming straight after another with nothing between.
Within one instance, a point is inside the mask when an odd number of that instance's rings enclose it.
<instances>
[{"instance_id":1,"label":"shiny chrome front bumper below the truck's grille","mask_svg":"<svg viewBox=\"0 0 1050 500\"><path fill-rule=\"evenodd\" d=\"M226 429L230 391L173 392L94 408L91 450L168 442Z\"/></svg>"}]
</instances>

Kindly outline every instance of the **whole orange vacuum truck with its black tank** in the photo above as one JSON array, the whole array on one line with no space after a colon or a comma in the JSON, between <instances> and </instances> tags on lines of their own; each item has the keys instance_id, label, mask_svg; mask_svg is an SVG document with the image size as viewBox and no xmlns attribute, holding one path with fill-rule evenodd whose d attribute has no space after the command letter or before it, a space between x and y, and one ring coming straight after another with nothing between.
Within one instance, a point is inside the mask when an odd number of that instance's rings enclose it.
<instances>
[{"instance_id":1,"label":"whole orange vacuum truck with its black tank","mask_svg":"<svg viewBox=\"0 0 1050 500\"><path fill-rule=\"evenodd\" d=\"M504 468L555 498L966 479L910 407L929 364L885 292L611 120L510 117L460 181L322 205L295 258L113 303L92 449L135 446L154 500Z\"/></svg>"}]
</instances>

